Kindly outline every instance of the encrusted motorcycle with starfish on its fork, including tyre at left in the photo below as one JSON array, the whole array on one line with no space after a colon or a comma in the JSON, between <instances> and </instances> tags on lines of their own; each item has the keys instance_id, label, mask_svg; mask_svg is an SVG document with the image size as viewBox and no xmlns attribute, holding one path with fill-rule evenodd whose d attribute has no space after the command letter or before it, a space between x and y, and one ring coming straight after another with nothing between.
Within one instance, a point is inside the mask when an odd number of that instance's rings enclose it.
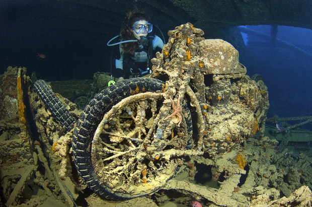
<instances>
[{"instance_id":1,"label":"encrusted motorcycle with starfish on its fork, including tyre at left","mask_svg":"<svg viewBox=\"0 0 312 207\"><path fill-rule=\"evenodd\" d=\"M183 170L187 156L213 159L259 128L263 132L266 86L245 75L231 44L203 34L190 23L169 31L149 78L109 86L76 121L43 81L34 84L55 119L72 132L67 152L100 196L150 194Z\"/></svg>"}]
</instances>

